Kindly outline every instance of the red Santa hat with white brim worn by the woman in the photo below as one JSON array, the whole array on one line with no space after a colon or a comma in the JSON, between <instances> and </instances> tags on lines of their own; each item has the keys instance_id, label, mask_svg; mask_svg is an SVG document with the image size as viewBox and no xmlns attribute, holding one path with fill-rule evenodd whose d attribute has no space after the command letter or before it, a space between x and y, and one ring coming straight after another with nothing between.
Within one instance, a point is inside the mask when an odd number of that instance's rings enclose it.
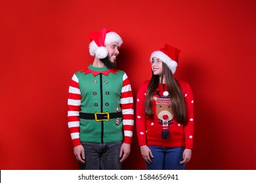
<instances>
[{"instance_id":1,"label":"red Santa hat with white brim worn by the woman","mask_svg":"<svg viewBox=\"0 0 256 183\"><path fill-rule=\"evenodd\" d=\"M154 57L161 59L161 61L163 61L163 63L165 63L174 74L179 62L180 52L181 50L174 48L169 44L165 44L163 48L160 48L160 50L157 50L151 54L150 61L152 63Z\"/></svg>"}]
</instances>

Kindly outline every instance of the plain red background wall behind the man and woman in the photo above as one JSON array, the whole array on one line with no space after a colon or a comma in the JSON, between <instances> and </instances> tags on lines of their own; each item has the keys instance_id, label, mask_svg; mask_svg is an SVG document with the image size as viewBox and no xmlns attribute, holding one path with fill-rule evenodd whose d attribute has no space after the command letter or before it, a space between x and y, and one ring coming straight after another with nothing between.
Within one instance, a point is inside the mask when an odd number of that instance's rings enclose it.
<instances>
[{"instance_id":1,"label":"plain red background wall behind the man and woman","mask_svg":"<svg viewBox=\"0 0 256 183\"><path fill-rule=\"evenodd\" d=\"M154 3L153 3L154 2ZM79 169L66 124L68 85L89 65L88 34L123 38L117 67L136 97L150 54L181 49L175 76L195 95L186 169L256 169L253 1L1 2L0 168ZM144 169L136 129L124 169Z\"/></svg>"}]
</instances>

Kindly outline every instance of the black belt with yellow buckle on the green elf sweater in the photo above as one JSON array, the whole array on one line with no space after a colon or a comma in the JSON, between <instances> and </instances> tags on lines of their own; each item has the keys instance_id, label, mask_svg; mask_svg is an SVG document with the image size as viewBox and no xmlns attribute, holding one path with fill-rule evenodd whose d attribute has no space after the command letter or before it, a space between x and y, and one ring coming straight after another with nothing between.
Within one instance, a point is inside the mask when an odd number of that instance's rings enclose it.
<instances>
[{"instance_id":1,"label":"black belt with yellow buckle on the green elf sweater","mask_svg":"<svg viewBox=\"0 0 256 183\"><path fill-rule=\"evenodd\" d=\"M123 116L122 112L95 112L95 113L85 113L79 112L79 118L85 120L95 120L96 122L108 121L113 118L121 118Z\"/></svg>"}]
</instances>

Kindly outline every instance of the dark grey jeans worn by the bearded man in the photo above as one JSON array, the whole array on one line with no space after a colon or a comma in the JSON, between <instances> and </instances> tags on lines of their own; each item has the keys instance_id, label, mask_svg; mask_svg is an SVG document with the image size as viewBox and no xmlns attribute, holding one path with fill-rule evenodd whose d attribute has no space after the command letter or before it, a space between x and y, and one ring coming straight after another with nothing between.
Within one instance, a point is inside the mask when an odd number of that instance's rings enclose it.
<instances>
[{"instance_id":1,"label":"dark grey jeans worn by the bearded man","mask_svg":"<svg viewBox=\"0 0 256 183\"><path fill-rule=\"evenodd\" d=\"M83 170L121 170L119 152L123 142L86 143L82 142L85 149L85 164L80 163Z\"/></svg>"}]
</instances>

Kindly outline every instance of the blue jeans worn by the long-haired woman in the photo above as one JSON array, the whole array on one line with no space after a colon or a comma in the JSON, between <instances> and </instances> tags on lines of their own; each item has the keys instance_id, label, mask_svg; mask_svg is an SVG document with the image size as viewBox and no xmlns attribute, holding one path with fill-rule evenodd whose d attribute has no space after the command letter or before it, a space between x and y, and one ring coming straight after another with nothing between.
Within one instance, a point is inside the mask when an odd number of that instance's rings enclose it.
<instances>
[{"instance_id":1,"label":"blue jeans worn by the long-haired woman","mask_svg":"<svg viewBox=\"0 0 256 183\"><path fill-rule=\"evenodd\" d=\"M151 158L152 163L146 163L148 170L184 170L185 163L180 164L183 160L182 148L164 148L160 146L148 146L154 158Z\"/></svg>"}]
</instances>

